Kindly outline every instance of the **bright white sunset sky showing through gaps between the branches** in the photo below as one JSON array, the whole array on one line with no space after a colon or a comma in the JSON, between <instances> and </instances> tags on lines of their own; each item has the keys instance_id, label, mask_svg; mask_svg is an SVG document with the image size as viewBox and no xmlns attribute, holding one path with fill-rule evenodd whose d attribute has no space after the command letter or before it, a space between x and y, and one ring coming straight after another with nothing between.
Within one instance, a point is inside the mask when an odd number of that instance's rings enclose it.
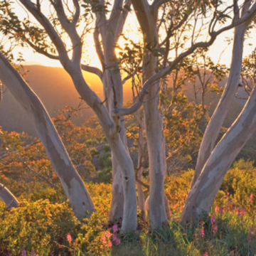
<instances>
[{"instance_id":1,"label":"bright white sunset sky showing through gaps between the branches","mask_svg":"<svg viewBox=\"0 0 256 256\"><path fill-rule=\"evenodd\" d=\"M53 13L52 9L49 9L49 5L47 1L42 1L42 11L44 14L48 15ZM18 3L18 1L14 4L14 9L16 11L16 14L19 18L26 18L28 17L31 21L37 23L35 18L31 14L28 14L25 9L23 9L23 6ZM71 10L72 11L72 10ZM93 23L92 23L93 26ZM139 41L142 41L141 33L139 32L139 23L137 21L137 18L134 14L134 12L130 12L127 17L127 22L124 26L124 32L123 32L125 38L129 38L129 40L134 41L135 43L139 43ZM252 33L251 33L252 34ZM210 58L215 63L220 62L220 64L230 65L231 56L232 56L232 43L228 44L226 41L226 38L233 38L233 30L227 31L223 34L220 34L218 36L218 39L213 43L213 46L210 46L209 55ZM252 50L255 48L255 46L252 45L252 43L255 41L255 38L247 38L247 41L245 41L245 48L244 48L244 55L248 55L252 52ZM119 38L119 47L116 50L117 56L119 56L119 53L122 48L124 48L125 44L129 41L126 41L124 37ZM70 40L65 40L66 46L71 48ZM18 55L18 53L22 53L23 58L25 62L23 64L25 65L46 65L51 67L61 67L61 64L59 60L53 60L50 59L44 55L41 55L39 53L36 53L35 50L32 50L28 47L17 47L14 49L14 55ZM174 57L174 53L170 52L170 57ZM97 53L95 51L95 43L93 40L92 31L87 33L84 38L84 49L83 49L83 58L82 63L95 66L97 68L101 68L100 60L97 57Z\"/></svg>"}]
</instances>

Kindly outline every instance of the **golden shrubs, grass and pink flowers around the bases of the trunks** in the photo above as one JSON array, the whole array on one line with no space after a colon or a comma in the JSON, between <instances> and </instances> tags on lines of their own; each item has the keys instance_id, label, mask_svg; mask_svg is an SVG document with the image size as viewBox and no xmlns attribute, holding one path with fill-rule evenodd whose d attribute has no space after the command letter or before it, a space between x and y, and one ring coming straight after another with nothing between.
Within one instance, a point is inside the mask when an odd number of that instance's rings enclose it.
<instances>
[{"instance_id":1,"label":"golden shrubs, grass and pink flowers around the bases of the trunks","mask_svg":"<svg viewBox=\"0 0 256 256\"><path fill-rule=\"evenodd\" d=\"M97 213L82 222L65 202L38 200L26 194L29 199L19 198L20 206L11 211L0 202L0 226L4 227L0 230L0 254L21 255L26 251L26 255L254 255L256 173L252 162L235 163L210 215L202 215L198 223L186 226L178 223L178 216L192 177L191 170L166 179L170 227L153 233L148 230L149 223L142 220L139 233L128 235L120 233L119 226L108 223L110 184L86 184ZM235 188L235 193L230 193L230 187ZM45 186L46 192L48 189Z\"/></svg>"}]
</instances>

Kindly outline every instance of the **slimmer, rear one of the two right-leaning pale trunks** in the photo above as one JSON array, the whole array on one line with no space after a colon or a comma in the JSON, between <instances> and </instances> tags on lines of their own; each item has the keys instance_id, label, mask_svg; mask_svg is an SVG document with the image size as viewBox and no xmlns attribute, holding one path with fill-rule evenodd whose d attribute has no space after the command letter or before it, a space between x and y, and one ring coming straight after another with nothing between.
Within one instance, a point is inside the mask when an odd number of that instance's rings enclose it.
<instances>
[{"instance_id":1,"label":"slimmer, rear one of the two right-leaning pale trunks","mask_svg":"<svg viewBox=\"0 0 256 256\"><path fill-rule=\"evenodd\" d=\"M232 105L235 93L238 90L242 68L242 50L245 40L245 31L249 23L250 20L240 24L235 28L230 75L228 77L228 82L225 85L223 95L218 102L218 106L216 107L213 116L210 118L210 122L206 127L206 132L203 134L203 140L199 149L195 175L193 176L193 180L191 182L191 188L196 183L197 178L201 174L203 166L206 164L211 151L214 149L216 139L220 133L220 129L223 125L226 115L228 114L228 111L230 110L230 106Z\"/></svg>"}]
</instances>

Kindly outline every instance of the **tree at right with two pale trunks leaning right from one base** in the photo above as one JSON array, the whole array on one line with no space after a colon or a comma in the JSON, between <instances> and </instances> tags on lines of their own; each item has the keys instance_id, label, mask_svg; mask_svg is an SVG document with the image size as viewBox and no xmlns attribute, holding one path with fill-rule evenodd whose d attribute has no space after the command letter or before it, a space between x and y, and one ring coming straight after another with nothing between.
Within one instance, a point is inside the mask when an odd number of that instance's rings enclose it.
<instances>
[{"instance_id":1,"label":"tree at right with two pale trunks leaning right from one base","mask_svg":"<svg viewBox=\"0 0 256 256\"><path fill-rule=\"evenodd\" d=\"M235 19L245 16L250 8L250 4L251 1L245 1L241 14L238 6L235 6ZM198 215L204 211L209 212L226 172L242 149L242 146L245 145L254 132L254 128L248 125L248 119L252 118L252 113L250 113L251 107L254 106L253 101L255 96L252 92L250 99L247 100L247 105L240 113L238 119L233 123L217 146L215 146L220 128L238 90L242 69L242 50L245 31L250 25L252 18L254 16L235 28L233 58L228 82L203 136L195 176L193 177L191 191L188 193L188 198L181 214L181 221L196 220ZM241 127L244 128L241 129Z\"/></svg>"}]
</instances>

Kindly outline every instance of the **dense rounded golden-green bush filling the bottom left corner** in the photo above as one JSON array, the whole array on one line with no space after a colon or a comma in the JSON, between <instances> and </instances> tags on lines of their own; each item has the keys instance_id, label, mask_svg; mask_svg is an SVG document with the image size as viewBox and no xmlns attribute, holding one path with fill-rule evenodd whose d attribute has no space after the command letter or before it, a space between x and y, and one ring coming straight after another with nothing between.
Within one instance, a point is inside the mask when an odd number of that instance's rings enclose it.
<instances>
[{"instance_id":1,"label":"dense rounded golden-green bush filling the bottom left corner","mask_svg":"<svg viewBox=\"0 0 256 256\"><path fill-rule=\"evenodd\" d=\"M21 250L36 255L68 255L67 234L77 236L80 222L68 203L48 200L26 201L1 213L0 255L20 255Z\"/></svg>"}]
</instances>

